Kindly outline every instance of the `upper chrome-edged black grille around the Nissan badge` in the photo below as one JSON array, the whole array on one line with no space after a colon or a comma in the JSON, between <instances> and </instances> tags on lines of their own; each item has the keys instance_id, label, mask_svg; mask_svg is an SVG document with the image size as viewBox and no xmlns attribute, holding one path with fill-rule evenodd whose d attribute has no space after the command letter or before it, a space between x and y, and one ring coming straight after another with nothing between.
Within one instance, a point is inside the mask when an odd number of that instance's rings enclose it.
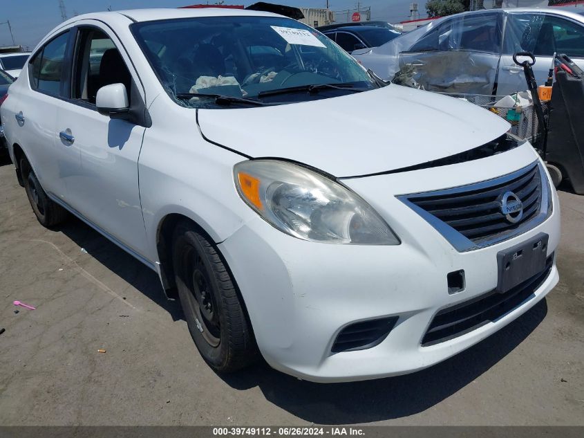
<instances>
[{"instance_id":1,"label":"upper chrome-edged black grille around the Nissan badge","mask_svg":"<svg viewBox=\"0 0 584 438\"><path fill-rule=\"evenodd\" d=\"M482 183L399 198L437 228L455 248L471 250L514 237L533 228L534 219L543 221L547 217L549 189L542 176L540 165L534 163L514 174ZM506 192L514 193L522 203L522 217L515 223L502 212L502 197ZM453 237L453 232L460 234Z\"/></svg>"}]
</instances>

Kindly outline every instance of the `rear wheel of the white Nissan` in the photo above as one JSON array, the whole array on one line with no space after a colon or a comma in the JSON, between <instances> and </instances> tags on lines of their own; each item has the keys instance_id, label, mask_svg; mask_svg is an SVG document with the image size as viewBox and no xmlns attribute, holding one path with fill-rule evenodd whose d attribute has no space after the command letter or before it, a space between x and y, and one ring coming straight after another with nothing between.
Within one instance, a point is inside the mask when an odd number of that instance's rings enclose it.
<instances>
[{"instance_id":1,"label":"rear wheel of the white Nissan","mask_svg":"<svg viewBox=\"0 0 584 438\"><path fill-rule=\"evenodd\" d=\"M67 210L47 196L28 161L21 160L20 169L26 196L39 223L46 228L63 223L68 217Z\"/></svg>"}]
</instances>

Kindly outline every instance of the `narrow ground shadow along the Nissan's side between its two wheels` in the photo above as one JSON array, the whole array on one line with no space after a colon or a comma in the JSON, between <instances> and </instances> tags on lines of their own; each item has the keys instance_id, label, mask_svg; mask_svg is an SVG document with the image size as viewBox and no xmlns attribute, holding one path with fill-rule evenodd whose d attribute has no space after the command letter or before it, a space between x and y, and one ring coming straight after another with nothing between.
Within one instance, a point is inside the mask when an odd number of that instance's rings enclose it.
<instances>
[{"instance_id":1,"label":"narrow ground shadow along the Nissan's side between its two wheels","mask_svg":"<svg viewBox=\"0 0 584 438\"><path fill-rule=\"evenodd\" d=\"M63 232L91 257L156 302L170 314L173 321L184 320L180 303L178 300L166 298L160 279L152 269L138 262L86 223L76 217L70 217L68 221L55 228L55 231Z\"/></svg>"}]
</instances>

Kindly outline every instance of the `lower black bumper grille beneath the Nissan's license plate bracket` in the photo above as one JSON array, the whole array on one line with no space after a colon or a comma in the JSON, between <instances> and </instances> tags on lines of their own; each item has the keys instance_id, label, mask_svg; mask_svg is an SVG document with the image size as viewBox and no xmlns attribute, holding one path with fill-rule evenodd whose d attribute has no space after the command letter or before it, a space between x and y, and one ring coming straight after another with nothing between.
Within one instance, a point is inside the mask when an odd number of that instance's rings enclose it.
<instances>
[{"instance_id":1,"label":"lower black bumper grille beneath the Nissan's license plate bracket","mask_svg":"<svg viewBox=\"0 0 584 438\"><path fill-rule=\"evenodd\" d=\"M498 320L516 309L543 284L552 271L554 255L547 257L545 269L505 293L495 290L478 298L442 309L434 316L422 339L422 347L442 343L469 331L478 329L487 322Z\"/></svg>"}]
</instances>

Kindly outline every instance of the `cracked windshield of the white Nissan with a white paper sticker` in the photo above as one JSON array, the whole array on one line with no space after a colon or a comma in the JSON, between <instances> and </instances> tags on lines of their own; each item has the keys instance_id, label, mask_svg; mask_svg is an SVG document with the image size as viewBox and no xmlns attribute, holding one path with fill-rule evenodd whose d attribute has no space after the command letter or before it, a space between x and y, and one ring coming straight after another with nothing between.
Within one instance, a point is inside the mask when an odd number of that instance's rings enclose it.
<instances>
[{"instance_id":1,"label":"cracked windshield of the white Nissan with a white paper sticker","mask_svg":"<svg viewBox=\"0 0 584 438\"><path fill-rule=\"evenodd\" d=\"M167 93L186 107L258 106L380 86L324 35L277 17L200 17L133 24Z\"/></svg>"}]
</instances>

